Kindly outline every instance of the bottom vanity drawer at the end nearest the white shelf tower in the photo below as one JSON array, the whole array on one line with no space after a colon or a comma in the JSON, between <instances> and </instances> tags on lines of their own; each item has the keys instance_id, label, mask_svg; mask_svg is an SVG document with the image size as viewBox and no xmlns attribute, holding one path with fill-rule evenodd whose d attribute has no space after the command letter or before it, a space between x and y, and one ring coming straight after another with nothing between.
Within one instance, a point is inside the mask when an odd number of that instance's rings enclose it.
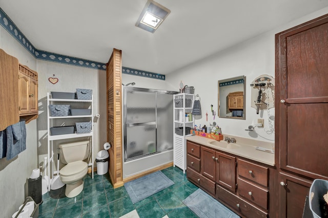
<instances>
[{"instance_id":1,"label":"bottom vanity drawer at the end nearest the white shelf tower","mask_svg":"<svg viewBox=\"0 0 328 218\"><path fill-rule=\"evenodd\" d=\"M212 180L203 177L189 167L187 167L187 178L204 188L205 191L207 191L213 197L215 196L215 182Z\"/></svg>"}]
</instances>

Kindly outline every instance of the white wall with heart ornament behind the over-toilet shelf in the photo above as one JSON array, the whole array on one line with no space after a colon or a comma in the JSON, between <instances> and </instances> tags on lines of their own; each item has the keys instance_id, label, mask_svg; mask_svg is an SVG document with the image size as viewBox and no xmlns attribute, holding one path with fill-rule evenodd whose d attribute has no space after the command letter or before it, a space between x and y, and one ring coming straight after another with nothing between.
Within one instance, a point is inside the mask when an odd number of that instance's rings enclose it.
<instances>
[{"instance_id":1,"label":"white wall with heart ornament behind the over-toilet shelf","mask_svg":"<svg viewBox=\"0 0 328 218\"><path fill-rule=\"evenodd\" d=\"M99 118L93 118L94 127L94 160L97 152L104 149L107 140L106 130L106 71L81 68L56 62L37 60L39 117L37 119L38 130L38 161L44 161L47 155L47 93L49 92L75 92L77 89L91 89L93 94L93 115L99 114ZM58 82L52 84L48 78L58 78ZM76 106L76 105L75 105ZM79 106L79 105L77 105ZM83 105L81 105L83 106ZM64 122L82 122L84 120L64 120ZM77 139L54 141L54 154L57 153L57 144L78 141ZM55 155L56 157L56 155ZM55 160L55 170L56 170ZM96 166L94 161L94 166ZM61 167L61 166L60 166Z\"/></svg>"}]
</instances>

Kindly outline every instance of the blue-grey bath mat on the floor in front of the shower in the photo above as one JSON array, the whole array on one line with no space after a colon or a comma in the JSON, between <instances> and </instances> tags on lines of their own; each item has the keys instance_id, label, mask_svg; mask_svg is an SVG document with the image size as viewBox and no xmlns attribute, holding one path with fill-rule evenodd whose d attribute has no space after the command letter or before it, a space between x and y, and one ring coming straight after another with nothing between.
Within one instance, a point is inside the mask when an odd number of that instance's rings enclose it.
<instances>
[{"instance_id":1,"label":"blue-grey bath mat on the floor in front of the shower","mask_svg":"<svg viewBox=\"0 0 328 218\"><path fill-rule=\"evenodd\" d=\"M133 204L157 193L171 185L174 182L170 180L161 171L153 172L144 177L140 177L124 184Z\"/></svg>"}]
</instances>

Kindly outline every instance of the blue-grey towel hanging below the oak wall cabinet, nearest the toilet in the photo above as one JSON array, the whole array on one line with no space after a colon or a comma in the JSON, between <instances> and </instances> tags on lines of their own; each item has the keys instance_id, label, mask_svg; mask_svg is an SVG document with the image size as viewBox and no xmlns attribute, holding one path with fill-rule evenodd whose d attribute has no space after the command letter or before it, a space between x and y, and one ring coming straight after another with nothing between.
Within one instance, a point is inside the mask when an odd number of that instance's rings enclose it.
<instances>
[{"instance_id":1,"label":"blue-grey towel hanging below the oak wall cabinet, nearest the toilet","mask_svg":"<svg viewBox=\"0 0 328 218\"><path fill-rule=\"evenodd\" d=\"M16 157L26 149L26 126L25 120L19 121L6 128L7 133L7 160ZM19 140L16 140L18 139Z\"/></svg>"}]
</instances>

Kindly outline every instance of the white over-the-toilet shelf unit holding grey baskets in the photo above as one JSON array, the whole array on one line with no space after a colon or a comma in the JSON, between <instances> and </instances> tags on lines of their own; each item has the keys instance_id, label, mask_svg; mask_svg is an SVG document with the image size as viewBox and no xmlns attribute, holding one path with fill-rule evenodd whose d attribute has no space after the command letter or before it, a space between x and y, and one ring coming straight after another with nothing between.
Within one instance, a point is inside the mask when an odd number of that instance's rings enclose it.
<instances>
[{"instance_id":1,"label":"white over-the-toilet shelf unit holding grey baskets","mask_svg":"<svg viewBox=\"0 0 328 218\"><path fill-rule=\"evenodd\" d=\"M50 104L69 104L69 103L76 103L76 102L85 102L90 103L91 108L91 115L82 115L82 116L61 116L61 117L51 117L50 111L49 111L49 105ZM54 99L51 98L51 94L47 93L47 121L48 121L48 176L51 175L51 178L53 178L54 173L57 173L57 171L54 171L54 152L53 152L53 142L56 140L64 140L64 139L73 139L73 138L82 138L82 137L88 137L89 140L91 140L91 163L88 163L88 166L91 166L91 172L92 172L92 179L94 176L94 170L93 170L93 123L91 126L91 132L90 133L74 133L74 134L65 134L65 135L50 135L50 127L53 126L54 120L58 119L76 119L76 118L86 118L86 120L92 122L93 118L93 96L91 100L80 100L80 99ZM87 119L89 118L89 119ZM79 121L78 121L79 122ZM50 166L51 169L50 170ZM58 170L58 169L57 169Z\"/></svg>"}]
</instances>

